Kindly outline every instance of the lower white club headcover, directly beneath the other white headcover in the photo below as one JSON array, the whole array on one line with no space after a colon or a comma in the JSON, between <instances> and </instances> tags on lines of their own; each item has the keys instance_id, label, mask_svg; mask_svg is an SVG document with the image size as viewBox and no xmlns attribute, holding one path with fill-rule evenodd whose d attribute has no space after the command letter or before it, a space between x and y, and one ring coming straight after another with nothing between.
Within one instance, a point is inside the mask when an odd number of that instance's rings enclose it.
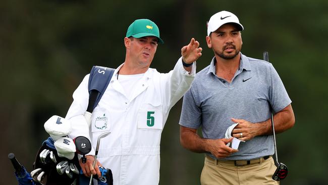
<instances>
[{"instance_id":1,"label":"lower white club headcover, directly beneath the other white headcover","mask_svg":"<svg viewBox=\"0 0 328 185\"><path fill-rule=\"evenodd\" d=\"M61 137L54 142L59 157L66 157L69 160L74 158L76 147L73 140L69 137Z\"/></svg>"}]
</instances>

